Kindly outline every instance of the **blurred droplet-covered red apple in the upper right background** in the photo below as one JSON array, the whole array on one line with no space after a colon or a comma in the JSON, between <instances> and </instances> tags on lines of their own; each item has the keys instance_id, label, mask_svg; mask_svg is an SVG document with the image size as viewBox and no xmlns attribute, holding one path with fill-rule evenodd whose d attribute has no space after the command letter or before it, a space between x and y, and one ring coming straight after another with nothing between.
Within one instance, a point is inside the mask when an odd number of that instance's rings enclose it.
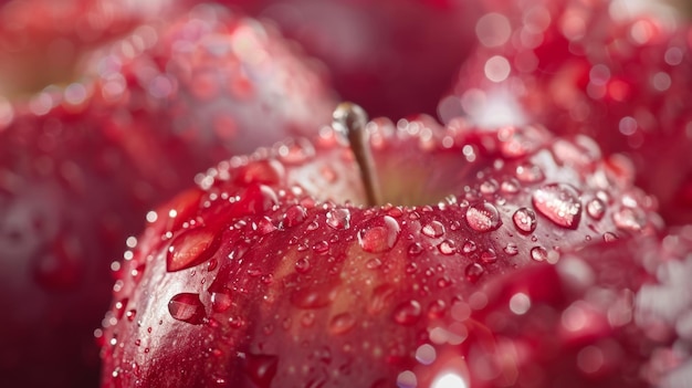
<instances>
[{"instance_id":1,"label":"blurred droplet-covered red apple in the upper right background","mask_svg":"<svg viewBox=\"0 0 692 388\"><path fill-rule=\"evenodd\" d=\"M689 27L658 15L616 20L617 8L601 1L512 4L478 21L481 49L441 103L443 119L538 120L593 136L607 155L635 161L667 221L692 222Z\"/></svg>"}]
</instances>

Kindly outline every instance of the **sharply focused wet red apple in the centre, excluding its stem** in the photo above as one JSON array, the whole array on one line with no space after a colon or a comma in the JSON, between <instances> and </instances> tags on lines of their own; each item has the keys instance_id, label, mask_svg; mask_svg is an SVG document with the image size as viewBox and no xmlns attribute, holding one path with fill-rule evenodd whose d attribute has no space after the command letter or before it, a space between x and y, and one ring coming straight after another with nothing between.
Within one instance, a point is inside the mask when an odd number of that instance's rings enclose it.
<instances>
[{"instance_id":1,"label":"sharply focused wet red apple in the centre, excluding its stem","mask_svg":"<svg viewBox=\"0 0 692 388\"><path fill-rule=\"evenodd\" d=\"M433 333L463 338L452 306L485 282L659 229L587 138L426 117L367 130L396 205L364 205L325 130L222 162L150 213L116 264L102 387L392 386Z\"/></svg>"}]
</instances>

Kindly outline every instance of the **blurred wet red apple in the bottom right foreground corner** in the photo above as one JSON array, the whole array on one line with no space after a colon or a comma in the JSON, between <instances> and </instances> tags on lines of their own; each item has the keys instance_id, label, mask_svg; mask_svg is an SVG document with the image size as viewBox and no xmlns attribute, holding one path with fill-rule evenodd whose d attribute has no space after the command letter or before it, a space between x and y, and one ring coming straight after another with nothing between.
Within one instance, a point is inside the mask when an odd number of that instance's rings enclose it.
<instances>
[{"instance_id":1,"label":"blurred wet red apple in the bottom right foreground corner","mask_svg":"<svg viewBox=\"0 0 692 388\"><path fill-rule=\"evenodd\" d=\"M451 307L463 343L419 348L418 386L686 387L691 232L594 244L486 283Z\"/></svg>"}]
</instances>

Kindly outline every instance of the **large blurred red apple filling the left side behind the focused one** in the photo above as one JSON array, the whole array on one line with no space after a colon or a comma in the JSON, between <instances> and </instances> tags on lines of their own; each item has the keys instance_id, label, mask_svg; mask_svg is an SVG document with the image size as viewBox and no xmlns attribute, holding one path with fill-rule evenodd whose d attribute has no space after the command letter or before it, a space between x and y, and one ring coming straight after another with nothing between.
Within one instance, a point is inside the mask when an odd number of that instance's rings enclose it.
<instances>
[{"instance_id":1,"label":"large blurred red apple filling the left side behind the focused one","mask_svg":"<svg viewBox=\"0 0 692 388\"><path fill-rule=\"evenodd\" d=\"M295 54L202 7L137 29L95 81L0 107L1 386L97 384L111 263L143 214L218 160L328 123L329 90Z\"/></svg>"}]
</instances>

